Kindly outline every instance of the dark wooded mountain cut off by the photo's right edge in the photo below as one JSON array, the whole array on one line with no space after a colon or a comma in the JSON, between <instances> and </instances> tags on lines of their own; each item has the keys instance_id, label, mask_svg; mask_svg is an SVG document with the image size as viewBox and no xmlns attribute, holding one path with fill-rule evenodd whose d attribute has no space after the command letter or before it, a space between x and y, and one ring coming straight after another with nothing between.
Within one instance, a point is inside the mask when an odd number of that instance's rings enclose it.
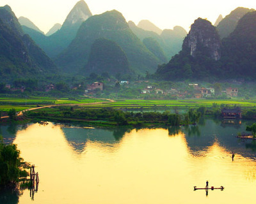
<instances>
[{"instance_id":1,"label":"dark wooded mountain cut off by the photo's right edge","mask_svg":"<svg viewBox=\"0 0 256 204\"><path fill-rule=\"evenodd\" d=\"M223 39L223 75L255 80L256 73L256 11L244 15L236 29Z\"/></svg>"}]
</instances>

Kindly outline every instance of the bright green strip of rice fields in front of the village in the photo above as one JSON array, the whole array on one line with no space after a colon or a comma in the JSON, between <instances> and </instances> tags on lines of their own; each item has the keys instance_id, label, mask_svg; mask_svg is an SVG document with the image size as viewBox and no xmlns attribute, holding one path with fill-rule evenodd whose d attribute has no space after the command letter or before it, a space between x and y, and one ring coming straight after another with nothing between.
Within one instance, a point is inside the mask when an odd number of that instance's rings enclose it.
<instances>
[{"instance_id":1,"label":"bright green strip of rice fields in front of the village","mask_svg":"<svg viewBox=\"0 0 256 204\"><path fill-rule=\"evenodd\" d=\"M104 103L102 103L104 102ZM105 99L52 99L52 98L0 98L0 110L6 112L11 108L17 111L26 110L36 106L49 105L79 105L84 108L196 108L199 106L212 106L213 103L217 105L241 106L242 108L256 108L256 100L241 100L241 99L226 99L226 100L210 100L210 99L178 99L178 100L143 100L143 99L118 99L115 102L108 102Z\"/></svg>"}]
</instances>

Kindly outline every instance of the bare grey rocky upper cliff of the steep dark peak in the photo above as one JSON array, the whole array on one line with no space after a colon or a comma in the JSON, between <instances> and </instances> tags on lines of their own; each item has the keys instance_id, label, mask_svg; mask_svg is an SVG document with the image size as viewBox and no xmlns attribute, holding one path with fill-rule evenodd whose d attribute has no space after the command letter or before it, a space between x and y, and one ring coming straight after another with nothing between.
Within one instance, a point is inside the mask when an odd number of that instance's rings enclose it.
<instances>
[{"instance_id":1,"label":"bare grey rocky upper cliff of the steep dark peak","mask_svg":"<svg viewBox=\"0 0 256 204\"><path fill-rule=\"evenodd\" d=\"M218 61L221 58L220 36L211 22L198 18L191 25L191 30L184 39L182 49L189 49L190 55L193 57L204 54Z\"/></svg>"}]
</instances>

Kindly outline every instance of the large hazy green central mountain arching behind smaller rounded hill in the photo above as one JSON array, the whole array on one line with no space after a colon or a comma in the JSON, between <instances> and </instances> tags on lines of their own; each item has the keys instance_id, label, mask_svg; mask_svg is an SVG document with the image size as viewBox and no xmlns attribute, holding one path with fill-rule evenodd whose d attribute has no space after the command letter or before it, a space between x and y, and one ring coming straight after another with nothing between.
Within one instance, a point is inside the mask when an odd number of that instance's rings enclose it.
<instances>
[{"instance_id":1,"label":"large hazy green central mountain arching behind smaller rounded hill","mask_svg":"<svg viewBox=\"0 0 256 204\"><path fill-rule=\"evenodd\" d=\"M76 38L56 63L66 72L78 71L88 62L90 47L97 38L115 41L136 73L152 73L159 64L159 59L132 33L122 13L116 10L94 15L83 22Z\"/></svg>"}]
</instances>

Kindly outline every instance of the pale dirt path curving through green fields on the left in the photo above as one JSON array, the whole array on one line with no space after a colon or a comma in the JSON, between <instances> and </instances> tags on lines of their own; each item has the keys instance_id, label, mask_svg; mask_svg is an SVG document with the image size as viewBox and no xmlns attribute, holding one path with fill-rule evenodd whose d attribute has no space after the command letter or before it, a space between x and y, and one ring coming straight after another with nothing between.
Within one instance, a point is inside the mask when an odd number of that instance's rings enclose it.
<instances>
[{"instance_id":1,"label":"pale dirt path curving through green fields on the left","mask_svg":"<svg viewBox=\"0 0 256 204\"><path fill-rule=\"evenodd\" d=\"M103 98L101 98L103 99ZM104 104L104 103L113 103L115 102L112 99L103 99L103 100L107 100L104 102L94 102L94 103L79 103L79 104L74 104L74 103L69 103L69 104L59 104L59 105L49 105L49 106L40 106L40 107L36 107L36 108L28 108L26 110L22 110L20 112L17 112L17 116L22 116L24 112L29 111L29 110L38 110L38 109L42 109L42 108L52 108L52 107L56 107L56 106L83 106L83 105L97 105L97 104ZM9 116L3 116L1 117L1 119L7 119Z\"/></svg>"}]
</instances>

